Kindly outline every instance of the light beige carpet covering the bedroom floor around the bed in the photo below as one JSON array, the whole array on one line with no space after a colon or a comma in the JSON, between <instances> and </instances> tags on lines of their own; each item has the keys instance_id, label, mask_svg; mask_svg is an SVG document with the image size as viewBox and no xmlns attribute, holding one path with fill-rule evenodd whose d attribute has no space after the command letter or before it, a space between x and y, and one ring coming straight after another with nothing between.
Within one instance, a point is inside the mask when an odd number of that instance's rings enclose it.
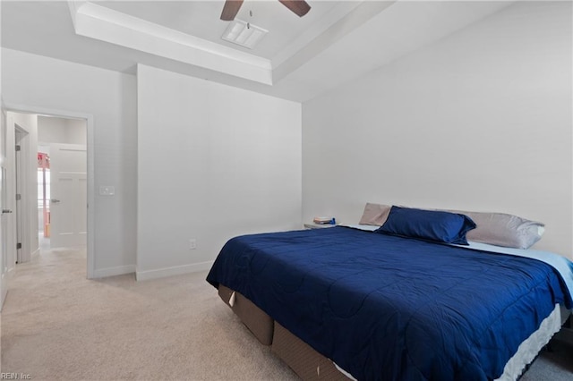
<instances>
[{"instance_id":1,"label":"light beige carpet covering the bedroom floor around the bed","mask_svg":"<svg viewBox=\"0 0 573 381\"><path fill-rule=\"evenodd\" d=\"M2 372L33 380L298 379L205 282L206 273L135 282L86 279L82 250L17 266L2 312ZM522 380L571 380L556 343Z\"/></svg>"}]
</instances>

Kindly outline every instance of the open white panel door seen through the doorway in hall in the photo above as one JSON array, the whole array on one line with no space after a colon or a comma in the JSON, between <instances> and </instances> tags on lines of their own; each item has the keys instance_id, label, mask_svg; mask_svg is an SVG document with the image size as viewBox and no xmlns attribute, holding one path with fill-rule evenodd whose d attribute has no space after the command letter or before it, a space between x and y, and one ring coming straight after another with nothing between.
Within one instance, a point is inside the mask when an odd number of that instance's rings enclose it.
<instances>
[{"instance_id":1,"label":"open white panel door seen through the doorway in hall","mask_svg":"<svg viewBox=\"0 0 573 381\"><path fill-rule=\"evenodd\" d=\"M85 246L87 237L86 146L50 144L50 247Z\"/></svg>"}]
</instances>

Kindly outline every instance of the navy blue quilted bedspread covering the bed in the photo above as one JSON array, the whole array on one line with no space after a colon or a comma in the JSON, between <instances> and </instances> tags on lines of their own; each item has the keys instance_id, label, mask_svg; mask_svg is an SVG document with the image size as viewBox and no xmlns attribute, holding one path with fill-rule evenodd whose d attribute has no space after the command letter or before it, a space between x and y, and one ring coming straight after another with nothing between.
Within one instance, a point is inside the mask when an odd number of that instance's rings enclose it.
<instances>
[{"instance_id":1,"label":"navy blue quilted bedspread covering the bed","mask_svg":"<svg viewBox=\"0 0 573 381\"><path fill-rule=\"evenodd\" d=\"M484 380L556 303L553 267L345 227L235 237L207 277L359 380Z\"/></svg>"}]
</instances>

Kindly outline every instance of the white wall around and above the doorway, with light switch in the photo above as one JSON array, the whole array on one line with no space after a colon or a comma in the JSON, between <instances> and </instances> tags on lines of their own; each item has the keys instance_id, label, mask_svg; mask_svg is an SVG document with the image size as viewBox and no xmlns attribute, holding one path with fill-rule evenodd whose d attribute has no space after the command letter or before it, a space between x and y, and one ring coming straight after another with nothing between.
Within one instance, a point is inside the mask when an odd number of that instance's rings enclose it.
<instances>
[{"instance_id":1,"label":"white wall around and above the doorway, with light switch","mask_svg":"<svg viewBox=\"0 0 573 381\"><path fill-rule=\"evenodd\" d=\"M115 196L95 196L95 275L133 272L135 77L11 49L2 52L2 77L6 104L93 115L96 189L115 186Z\"/></svg>"}]
</instances>

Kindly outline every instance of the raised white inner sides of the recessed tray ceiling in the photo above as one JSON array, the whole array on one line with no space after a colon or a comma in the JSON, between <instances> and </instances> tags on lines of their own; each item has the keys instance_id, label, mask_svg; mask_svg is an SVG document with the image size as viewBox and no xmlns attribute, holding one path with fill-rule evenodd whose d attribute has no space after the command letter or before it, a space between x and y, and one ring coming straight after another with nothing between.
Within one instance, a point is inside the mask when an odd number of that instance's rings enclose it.
<instances>
[{"instance_id":1,"label":"raised white inner sides of the recessed tray ceiling","mask_svg":"<svg viewBox=\"0 0 573 381\"><path fill-rule=\"evenodd\" d=\"M198 38L93 2L70 0L68 6L77 35L272 85L273 80L276 82L285 78L393 3L340 2L272 59Z\"/></svg>"}]
</instances>

